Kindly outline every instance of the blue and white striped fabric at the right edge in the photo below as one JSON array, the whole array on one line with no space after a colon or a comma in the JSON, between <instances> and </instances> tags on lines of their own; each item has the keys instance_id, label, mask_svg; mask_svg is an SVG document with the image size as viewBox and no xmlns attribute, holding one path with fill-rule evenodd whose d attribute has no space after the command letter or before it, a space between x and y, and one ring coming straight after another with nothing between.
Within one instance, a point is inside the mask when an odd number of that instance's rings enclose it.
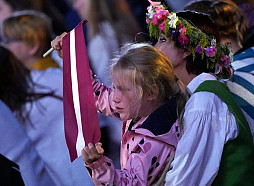
<instances>
[{"instance_id":1,"label":"blue and white striped fabric at the right edge","mask_svg":"<svg viewBox=\"0 0 254 186\"><path fill-rule=\"evenodd\" d=\"M242 108L254 141L254 47L234 56L235 72L228 87Z\"/></svg>"}]
</instances>

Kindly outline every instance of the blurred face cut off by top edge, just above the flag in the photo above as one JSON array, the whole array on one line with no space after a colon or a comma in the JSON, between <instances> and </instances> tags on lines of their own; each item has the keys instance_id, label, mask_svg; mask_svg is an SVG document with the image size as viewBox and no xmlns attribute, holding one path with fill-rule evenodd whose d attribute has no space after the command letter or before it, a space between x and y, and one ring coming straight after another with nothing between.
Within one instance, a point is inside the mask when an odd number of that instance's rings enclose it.
<instances>
[{"instance_id":1,"label":"blurred face cut off by top edge, just above the flag","mask_svg":"<svg viewBox=\"0 0 254 186\"><path fill-rule=\"evenodd\" d=\"M81 19L88 19L90 0L72 0L73 8L78 12Z\"/></svg>"}]
</instances>

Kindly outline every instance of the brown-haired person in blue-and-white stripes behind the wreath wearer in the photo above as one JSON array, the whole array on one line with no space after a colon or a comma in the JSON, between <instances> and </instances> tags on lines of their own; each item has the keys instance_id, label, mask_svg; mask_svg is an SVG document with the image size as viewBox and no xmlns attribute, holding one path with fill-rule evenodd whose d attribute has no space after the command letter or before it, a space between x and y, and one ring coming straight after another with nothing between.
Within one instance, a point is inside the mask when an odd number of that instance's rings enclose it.
<instances>
[{"instance_id":1,"label":"brown-haired person in blue-and-white stripes behind the wreath wearer","mask_svg":"<svg viewBox=\"0 0 254 186\"><path fill-rule=\"evenodd\" d=\"M248 19L231 0L198 0L188 4L184 10L208 14L218 26L221 43L231 43L234 74L227 86L243 110L254 142L254 44L246 48L245 41L251 31Z\"/></svg>"}]
</instances>

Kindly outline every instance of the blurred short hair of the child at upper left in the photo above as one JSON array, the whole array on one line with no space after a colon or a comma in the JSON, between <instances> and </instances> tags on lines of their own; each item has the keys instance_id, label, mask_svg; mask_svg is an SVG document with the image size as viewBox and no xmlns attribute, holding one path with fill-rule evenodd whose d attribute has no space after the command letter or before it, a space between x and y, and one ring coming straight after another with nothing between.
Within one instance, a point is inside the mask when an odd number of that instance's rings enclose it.
<instances>
[{"instance_id":1,"label":"blurred short hair of the child at upper left","mask_svg":"<svg viewBox=\"0 0 254 186\"><path fill-rule=\"evenodd\" d=\"M41 12L34 10L18 11L3 21L2 36L9 40L23 41L29 46L38 44L37 55L41 56L50 47L51 22Z\"/></svg>"}]
</instances>

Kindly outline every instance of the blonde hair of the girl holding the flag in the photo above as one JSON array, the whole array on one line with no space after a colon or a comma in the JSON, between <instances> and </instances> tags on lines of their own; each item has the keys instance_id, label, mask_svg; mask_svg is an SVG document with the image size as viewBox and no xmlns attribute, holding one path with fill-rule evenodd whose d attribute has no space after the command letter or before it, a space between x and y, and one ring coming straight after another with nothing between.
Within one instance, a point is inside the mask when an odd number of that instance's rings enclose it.
<instances>
[{"instance_id":1,"label":"blonde hair of the girl holding the flag","mask_svg":"<svg viewBox=\"0 0 254 186\"><path fill-rule=\"evenodd\" d=\"M139 99L144 92L154 88L159 91L158 102L165 103L172 97L177 99L178 118L182 115L187 93L178 81L168 58L150 44L125 44L112 60L111 76L123 83L131 79L139 89Z\"/></svg>"}]
</instances>

